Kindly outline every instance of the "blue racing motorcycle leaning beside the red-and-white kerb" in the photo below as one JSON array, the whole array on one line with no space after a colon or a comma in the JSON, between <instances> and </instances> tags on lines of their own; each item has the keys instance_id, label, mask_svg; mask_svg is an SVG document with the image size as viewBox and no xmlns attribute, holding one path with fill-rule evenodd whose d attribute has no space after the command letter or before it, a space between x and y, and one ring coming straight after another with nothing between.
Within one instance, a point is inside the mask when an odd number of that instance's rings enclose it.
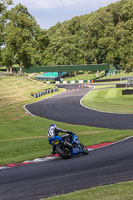
<instances>
[{"instance_id":1,"label":"blue racing motorcycle leaning beside the red-and-white kerb","mask_svg":"<svg viewBox=\"0 0 133 200\"><path fill-rule=\"evenodd\" d=\"M62 158L71 158L73 155L89 153L88 149L79 143L78 136L65 134L49 138L49 144L52 145L53 154L59 154Z\"/></svg>"}]
</instances>

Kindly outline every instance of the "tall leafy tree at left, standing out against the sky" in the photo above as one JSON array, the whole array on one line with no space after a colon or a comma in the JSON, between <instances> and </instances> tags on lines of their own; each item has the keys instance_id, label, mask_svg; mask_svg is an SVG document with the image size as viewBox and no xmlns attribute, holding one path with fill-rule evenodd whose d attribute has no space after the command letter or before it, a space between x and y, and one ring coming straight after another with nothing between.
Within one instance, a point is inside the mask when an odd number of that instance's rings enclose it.
<instances>
[{"instance_id":1,"label":"tall leafy tree at left, standing out against the sky","mask_svg":"<svg viewBox=\"0 0 133 200\"><path fill-rule=\"evenodd\" d=\"M6 52L12 52L12 63L19 64L21 70L22 67L29 68L33 64L37 42L44 42L43 33L34 17L21 4L8 11L7 16L4 30Z\"/></svg>"}]
</instances>

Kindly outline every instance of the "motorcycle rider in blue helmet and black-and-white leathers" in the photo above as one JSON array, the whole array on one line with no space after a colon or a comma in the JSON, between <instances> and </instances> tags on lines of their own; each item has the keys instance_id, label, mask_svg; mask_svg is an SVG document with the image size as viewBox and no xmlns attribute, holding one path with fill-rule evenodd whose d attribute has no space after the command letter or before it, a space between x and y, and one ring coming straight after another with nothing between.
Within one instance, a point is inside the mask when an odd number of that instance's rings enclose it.
<instances>
[{"instance_id":1,"label":"motorcycle rider in blue helmet and black-and-white leathers","mask_svg":"<svg viewBox=\"0 0 133 200\"><path fill-rule=\"evenodd\" d=\"M58 128L55 124L51 124L48 128L48 137L58 136L59 133L68 133L68 141L72 141L72 135L74 134L72 131L63 130ZM55 154L55 146L52 148L52 154Z\"/></svg>"}]
</instances>

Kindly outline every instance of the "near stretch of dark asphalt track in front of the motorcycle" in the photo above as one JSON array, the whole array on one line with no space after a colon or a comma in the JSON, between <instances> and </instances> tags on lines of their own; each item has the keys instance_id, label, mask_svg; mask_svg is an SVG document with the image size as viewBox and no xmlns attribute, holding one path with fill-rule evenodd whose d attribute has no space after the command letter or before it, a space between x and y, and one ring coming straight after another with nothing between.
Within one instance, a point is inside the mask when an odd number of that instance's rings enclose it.
<instances>
[{"instance_id":1,"label":"near stretch of dark asphalt track in front of the motorcycle","mask_svg":"<svg viewBox=\"0 0 133 200\"><path fill-rule=\"evenodd\" d=\"M39 200L133 180L133 137L89 155L0 170L0 200Z\"/></svg>"}]
</instances>

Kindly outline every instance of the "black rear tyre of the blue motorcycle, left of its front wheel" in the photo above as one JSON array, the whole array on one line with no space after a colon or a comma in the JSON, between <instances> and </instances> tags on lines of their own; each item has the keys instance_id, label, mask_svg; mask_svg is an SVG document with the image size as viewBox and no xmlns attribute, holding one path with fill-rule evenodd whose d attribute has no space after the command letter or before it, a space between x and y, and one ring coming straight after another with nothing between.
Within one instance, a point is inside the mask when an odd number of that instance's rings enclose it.
<instances>
[{"instance_id":1,"label":"black rear tyre of the blue motorcycle, left of its front wheel","mask_svg":"<svg viewBox=\"0 0 133 200\"><path fill-rule=\"evenodd\" d=\"M71 150L68 149L68 148L66 148L66 149L69 150L69 151L68 151L69 153L65 153L64 150L63 150L62 148L63 148L63 145L62 145L62 144L58 144L58 145L56 146L56 151L57 151L57 153L58 153L62 158L65 158L65 159L71 158L71 157L72 157L72 152L71 152Z\"/></svg>"}]
</instances>

